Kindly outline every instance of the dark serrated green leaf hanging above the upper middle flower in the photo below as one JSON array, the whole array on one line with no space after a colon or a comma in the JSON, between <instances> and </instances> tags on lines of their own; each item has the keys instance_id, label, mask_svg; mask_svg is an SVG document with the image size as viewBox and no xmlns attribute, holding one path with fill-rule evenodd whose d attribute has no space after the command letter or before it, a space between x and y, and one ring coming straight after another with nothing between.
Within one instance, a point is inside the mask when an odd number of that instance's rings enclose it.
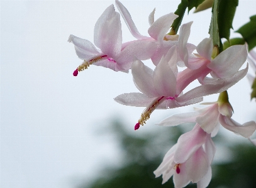
<instances>
[{"instance_id":1,"label":"dark serrated green leaf hanging above the upper middle flower","mask_svg":"<svg viewBox=\"0 0 256 188\"><path fill-rule=\"evenodd\" d=\"M171 26L172 30L174 30L175 33L177 33L177 31L179 30L179 26L181 26L181 22L182 22L183 16L185 14L185 11L186 11L188 5L189 5L188 0L181 0L181 3L179 4L177 10L174 13L179 16L178 18L176 18L174 20L174 23L172 23L172 26Z\"/></svg>"}]
</instances>

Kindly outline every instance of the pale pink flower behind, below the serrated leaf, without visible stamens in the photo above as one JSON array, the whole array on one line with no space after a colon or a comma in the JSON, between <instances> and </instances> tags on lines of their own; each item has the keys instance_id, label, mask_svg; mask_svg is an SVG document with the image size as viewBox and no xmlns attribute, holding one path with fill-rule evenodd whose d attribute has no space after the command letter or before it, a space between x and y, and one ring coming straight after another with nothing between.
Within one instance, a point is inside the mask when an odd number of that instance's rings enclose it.
<instances>
[{"instance_id":1,"label":"pale pink flower behind, below the serrated leaf, without visible stamens","mask_svg":"<svg viewBox=\"0 0 256 188\"><path fill-rule=\"evenodd\" d=\"M155 41L157 44L157 49L154 53L152 53L152 56L150 57L154 65L159 64L162 56L166 55L169 49L174 45L177 47L177 52L175 52L178 54L177 62L179 62L181 65L181 61L184 59L187 60L188 55L190 55L196 49L194 45L187 43L192 21L181 26L179 36L166 35L166 33L170 30L170 25L172 25L174 19L177 18L177 15L174 13L165 14L164 16L161 16L159 19L154 21L154 9L148 16L148 22L150 23L150 28L148 28L148 34L150 37L148 37L140 34L135 26L135 23L133 23L133 20L131 19L130 13L125 8L125 6L120 3L120 1L116 0L116 6L120 11L121 16L125 20L131 35L133 35L138 40Z\"/></svg>"}]
</instances>

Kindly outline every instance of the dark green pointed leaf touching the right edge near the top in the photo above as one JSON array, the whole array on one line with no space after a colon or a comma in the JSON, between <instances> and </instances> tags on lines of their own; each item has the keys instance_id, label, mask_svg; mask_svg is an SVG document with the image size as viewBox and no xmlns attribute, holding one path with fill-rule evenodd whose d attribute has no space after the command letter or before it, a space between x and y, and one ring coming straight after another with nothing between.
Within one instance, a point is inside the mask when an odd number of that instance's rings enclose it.
<instances>
[{"instance_id":1,"label":"dark green pointed leaf touching the right edge near the top","mask_svg":"<svg viewBox=\"0 0 256 188\"><path fill-rule=\"evenodd\" d=\"M240 33L248 44L249 51L256 47L256 15L250 17L250 21L239 28Z\"/></svg>"}]
</instances>

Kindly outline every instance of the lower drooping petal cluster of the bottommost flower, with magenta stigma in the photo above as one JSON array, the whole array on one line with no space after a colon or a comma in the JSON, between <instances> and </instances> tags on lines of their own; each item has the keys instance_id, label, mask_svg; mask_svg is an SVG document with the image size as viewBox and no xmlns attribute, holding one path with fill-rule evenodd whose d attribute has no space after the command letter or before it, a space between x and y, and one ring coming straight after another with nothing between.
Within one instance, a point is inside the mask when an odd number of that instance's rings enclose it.
<instances>
[{"instance_id":1,"label":"lower drooping petal cluster of the bottommost flower, with magenta stigma","mask_svg":"<svg viewBox=\"0 0 256 188\"><path fill-rule=\"evenodd\" d=\"M189 182L205 188L211 181L211 162L215 152L211 136L196 124L192 131L180 136L153 173L155 177L162 175L162 184L173 176L175 188L185 187Z\"/></svg>"}]
</instances>

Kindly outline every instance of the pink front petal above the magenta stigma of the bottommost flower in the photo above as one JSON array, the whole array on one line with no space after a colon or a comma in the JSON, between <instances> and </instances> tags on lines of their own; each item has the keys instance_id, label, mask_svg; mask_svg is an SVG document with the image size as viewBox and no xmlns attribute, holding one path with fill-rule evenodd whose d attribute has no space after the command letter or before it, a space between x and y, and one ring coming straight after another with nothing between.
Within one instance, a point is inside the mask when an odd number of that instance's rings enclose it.
<instances>
[{"instance_id":1,"label":"pink front petal above the magenta stigma of the bottommost flower","mask_svg":"<svg viewBox=\"0 0 256 188\"><path fill-rule=\"evenodd\" d=\"M207 133L196 124L192 131L189 131L179 137L177 141L177 150L174 154L175 163L186 162L200 148L205 140Z\"/></svg>"}]
</instances>

